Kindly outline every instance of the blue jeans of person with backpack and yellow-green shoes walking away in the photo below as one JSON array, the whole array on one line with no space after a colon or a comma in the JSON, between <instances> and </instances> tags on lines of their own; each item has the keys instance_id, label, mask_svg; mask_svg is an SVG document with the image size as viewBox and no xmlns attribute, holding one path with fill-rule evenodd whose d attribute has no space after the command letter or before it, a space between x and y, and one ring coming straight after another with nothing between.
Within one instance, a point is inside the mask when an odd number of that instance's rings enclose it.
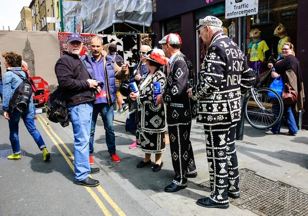
<instances>
[{"instance_id":1,"label":"blue jeans of person with backpack and yellow-green shoes walking away","mask_svg":"<svg viewBox=\"0 0 308 216\"><path fill-rule=\"evenodd\" d=\"M26 109L23 113L18 110L9 110L9 128L10 128L10 141L12 145L13 152L15 154L21 153L21 147L18 137L18 123L20 122L20 117L23 118L25 126L31 136L33 137L35 143L37 144L38 148L42 150L46 148L46 145L43 141L41 133L36 129L34 124L34 115L33 115L33 108L30 104L28 109Z\"/></svg>"}]
</instances>

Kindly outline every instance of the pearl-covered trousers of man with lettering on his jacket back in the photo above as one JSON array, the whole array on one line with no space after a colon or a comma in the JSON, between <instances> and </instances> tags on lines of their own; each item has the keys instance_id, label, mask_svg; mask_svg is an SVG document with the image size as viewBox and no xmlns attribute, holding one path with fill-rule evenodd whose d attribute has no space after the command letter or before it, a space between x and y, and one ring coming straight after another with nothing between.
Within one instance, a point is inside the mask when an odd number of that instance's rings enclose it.
<instances>
[{"instance_id":1,"label":"pearl-covered trousers of man with lettering on his jacket back","mask_svg":"<svg viewBox=\"0 0 308 216\"><path fill-rule=\"evenodd\" d=\"M235 149L236 124L205 126L210 199L227 203L227 193L239 193L239 170Z\"/></svg>"}]
</instances>

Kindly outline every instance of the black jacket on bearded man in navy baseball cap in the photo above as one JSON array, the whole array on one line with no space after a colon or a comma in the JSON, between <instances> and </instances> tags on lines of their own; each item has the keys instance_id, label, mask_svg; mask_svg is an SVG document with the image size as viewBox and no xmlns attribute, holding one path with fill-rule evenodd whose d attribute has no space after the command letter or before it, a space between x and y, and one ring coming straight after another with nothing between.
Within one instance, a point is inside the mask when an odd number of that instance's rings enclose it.
<instances>
[{"instance_id":1,"label":"black jacket on bearded man in navy baseball cap","mask_svg":"<svg viewBox=\"0 0 308 216\"><path fill-rule=\"evenodd\" d=\"M54 66L54 71L59 86L66 94L67 106L95 101L94 89L91 89L87 82L91 76L78 55L63 52ZM76 94L87 95L88 97L76 96Z\"/></svg>"}]
</instances>

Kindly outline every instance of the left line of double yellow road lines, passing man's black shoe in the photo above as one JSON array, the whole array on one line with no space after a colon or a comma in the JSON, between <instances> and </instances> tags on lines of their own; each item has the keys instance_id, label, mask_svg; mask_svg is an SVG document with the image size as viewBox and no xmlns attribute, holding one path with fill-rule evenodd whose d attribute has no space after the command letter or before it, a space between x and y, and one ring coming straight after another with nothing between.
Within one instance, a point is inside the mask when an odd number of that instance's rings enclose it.
<instances>
[{"instance_id":1,"label":"left line of double yellow road lines, passing man's black shoe","mask_svg":"<svg viewBox=\"0 0 308 216\"><path fill-rule=\"evenodd\" d=\"M59 149L60 153L62 154L63 158L66 160L66 162L68 163L68 165L70 166L70 168L74 171L74 166L72 164L72 162L68 159L68 157L66 156L66 154L64 153L64 151L62 150L62 148L59 146L59 144L53 139L52 135L49 133L49 131L47 130L47 128L45 127L44 123L42 122L41 118L43 119L43 121L45 121L45 119L41 116L41 115L37 115L39 116L37 119L38 121L41 123L41 125L43 126L45 132L47 133L47 135L50 137L50 139L52 140L52 142L54 143L54 145L57 147L57 149ZM46 122L46 121L45 121ZM52 133L54 134L53 130ZM59 138L60 139L60 138ZM85 186L84 186L85 187ZM99 199L99 197L97 196L97 194L95 194L93 192L93 190L91 188L85 187L87 189L87 191L91 194L92 198L97 202L97 204L100 206L100 208L102 209L102 211L104 212L105 215L109 216L111 215L110 212L107 210L107 208L105 207L105 205L103 204L103 202Z\"/></svg>"}]
</instances>

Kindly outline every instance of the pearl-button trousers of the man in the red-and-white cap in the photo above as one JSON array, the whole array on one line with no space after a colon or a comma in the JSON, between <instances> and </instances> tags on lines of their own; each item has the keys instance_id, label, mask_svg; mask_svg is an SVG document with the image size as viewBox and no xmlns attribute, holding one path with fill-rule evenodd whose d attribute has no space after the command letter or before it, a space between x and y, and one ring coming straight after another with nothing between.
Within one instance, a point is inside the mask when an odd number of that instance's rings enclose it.
<instances>
[{"instance_id":1,"label":"pearl-button trousers of the man in the red-and-white cap","mask_svg":"<svg viewBox=\"0 0 308 216\"><path fill-rule=\"evenodd\" d=\"M191 122L184 124L168 125L172 165L176 172L172 181L176 185L187 185L187 174L196 173L194 152L190 138Z\"/></svg>"}]
</instances>

